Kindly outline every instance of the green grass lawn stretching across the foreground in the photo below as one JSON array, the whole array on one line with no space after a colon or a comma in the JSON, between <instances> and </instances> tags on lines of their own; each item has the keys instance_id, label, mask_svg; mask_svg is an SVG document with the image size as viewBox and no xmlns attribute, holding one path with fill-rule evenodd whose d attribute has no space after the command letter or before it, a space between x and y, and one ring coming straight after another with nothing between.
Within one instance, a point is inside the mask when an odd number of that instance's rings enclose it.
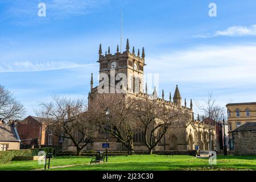
<instances>
[{"instance_id":1,"label":"green grass lawn stretching across the foreground","mask_svg":"<svg viewBox=\"0 0 256 182\"><path fill-rule=\"evenodd\" d=\"M51 170L256 170L256 156L218 156L216 165L208 159L188 155L109 156L106 164L88 165L91 157L63 156L51 159L51 167L82 164ZM44 166L37 161L13 161L0 165L0 170L31 170Z\"/></svg>"}]
</instances>

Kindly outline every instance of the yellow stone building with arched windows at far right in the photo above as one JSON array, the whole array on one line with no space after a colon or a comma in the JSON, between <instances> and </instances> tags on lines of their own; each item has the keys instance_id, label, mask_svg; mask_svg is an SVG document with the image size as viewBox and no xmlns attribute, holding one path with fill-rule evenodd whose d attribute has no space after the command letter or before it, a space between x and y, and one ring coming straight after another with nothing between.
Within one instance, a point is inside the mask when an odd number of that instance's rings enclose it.
<instances>
[{"instance_id":1,"label":"yellow stone building with arched windows at far right","mask_svg":"<svg viewBox=\"0 0 256 182\"><path fill-rule=\"evenodd\" d=\"M233 150L232 131L248 122L256 122L256 102L227 104L229 125L229 148Z\"/></svg>"}]
</instances>

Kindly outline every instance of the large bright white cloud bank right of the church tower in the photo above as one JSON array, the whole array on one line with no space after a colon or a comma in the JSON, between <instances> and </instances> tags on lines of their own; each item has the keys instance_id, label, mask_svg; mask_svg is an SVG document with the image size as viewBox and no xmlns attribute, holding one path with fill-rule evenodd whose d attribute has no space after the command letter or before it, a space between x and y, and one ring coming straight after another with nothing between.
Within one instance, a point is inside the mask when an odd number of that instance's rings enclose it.
<instances>
[{"instance_id":1,"label":"large bright white cloud bank right of the church tower","mask_svg":"<svg viewBox=\"0 0 256 182\"><path fill-rule=\"evenodd\" d=\"M164 82L216 86L256 84L256 46L201 46L147 59L149 72Z\"/></svg>"}]
</instances>

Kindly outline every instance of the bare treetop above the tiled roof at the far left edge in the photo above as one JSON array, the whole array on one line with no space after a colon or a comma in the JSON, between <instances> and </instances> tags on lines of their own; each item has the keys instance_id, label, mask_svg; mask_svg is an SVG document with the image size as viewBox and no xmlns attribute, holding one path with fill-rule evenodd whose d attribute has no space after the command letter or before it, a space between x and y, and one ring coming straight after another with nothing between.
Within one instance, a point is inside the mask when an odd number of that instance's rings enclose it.
<instances>
[{"instance_id":1,"label":"bare treetop above the tiled roof at the far left edge","mask_svg":"<svg viewBox=\"0 0 256 182\"><path fill-rule=\"evenodd\" d=\"M25 113L24 106L15 100L13 93L0 85L0 118L20 119Z\"/></svg>"}]
</instances>

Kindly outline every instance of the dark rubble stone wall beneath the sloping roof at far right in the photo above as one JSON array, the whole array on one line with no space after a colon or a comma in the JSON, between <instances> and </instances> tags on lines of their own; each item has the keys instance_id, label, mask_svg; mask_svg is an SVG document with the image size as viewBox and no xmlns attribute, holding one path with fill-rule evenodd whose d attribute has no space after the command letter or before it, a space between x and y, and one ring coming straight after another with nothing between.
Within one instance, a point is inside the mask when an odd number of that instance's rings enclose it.
<instances>
[{"instance_id":1,"label":"dark rubble stone wall beneath the sloping roof at far right","mask_svg":"<svg viewBox=\"0 0 256 182\"><path fill-rule=\"evenodd\" d=\"M233 134L235 155L256 155L256 131L238 131Z\"/></svg>"}]
</instances>

